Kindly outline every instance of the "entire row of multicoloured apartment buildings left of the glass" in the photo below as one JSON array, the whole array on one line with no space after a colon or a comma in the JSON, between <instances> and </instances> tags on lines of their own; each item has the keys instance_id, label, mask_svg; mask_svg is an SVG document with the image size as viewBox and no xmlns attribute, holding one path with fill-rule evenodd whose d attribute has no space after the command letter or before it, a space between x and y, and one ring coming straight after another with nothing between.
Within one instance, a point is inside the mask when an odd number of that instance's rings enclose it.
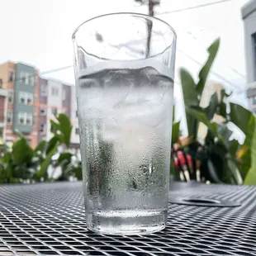
<instances>
[{"instance_id":1,"label":"entire row of multicoloured apartment buildings left of the glass","mask_svg":"<svg viewBox=\"0 0 256 256\"><path fill-rule=\"evenodd\" d=\"M52 137L50 120L65 113L73 124L71 147L79 148L75 87L54 79L39 78L28 64L0 65L0 137L7 143L25 135L35 148L40 140Z\"/></svg>"}]
</instances>

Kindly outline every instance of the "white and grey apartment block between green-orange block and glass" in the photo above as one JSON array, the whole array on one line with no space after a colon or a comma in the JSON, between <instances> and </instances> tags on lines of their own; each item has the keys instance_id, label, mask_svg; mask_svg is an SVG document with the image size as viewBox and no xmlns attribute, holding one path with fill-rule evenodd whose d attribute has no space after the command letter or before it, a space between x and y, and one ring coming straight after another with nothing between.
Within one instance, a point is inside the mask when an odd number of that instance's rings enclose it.
<instances>
[{"instance_id":1,"label":"white and grey apartment block between green-orange block and glass","mask_svg":"<svg viewBox=\"0 0 256 256\"><path fill-rule=\"evenodd\" d=\"M54 79L40 78L38 102L38 139L50 140L53 136L50 120L55 120L55 114L65 113L73 124L71 147L79 147L78 119L74 86L64 84Z\"/></svg>"}]
</instances>

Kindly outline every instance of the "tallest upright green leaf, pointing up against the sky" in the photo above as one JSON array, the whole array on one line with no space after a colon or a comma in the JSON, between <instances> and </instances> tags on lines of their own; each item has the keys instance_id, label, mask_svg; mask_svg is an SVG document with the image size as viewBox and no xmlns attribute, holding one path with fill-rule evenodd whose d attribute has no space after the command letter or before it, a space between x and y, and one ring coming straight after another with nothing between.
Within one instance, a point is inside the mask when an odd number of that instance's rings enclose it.
<instances>
[{"instance_id":1,"label":"tallest upright green leaf, pointing up against the sky","mask_svg":"<svg viewBox=\"0 0 256 256\"><path fill-rule=\"evenodd\" d=\"M201 71L199 72L199 82L197 83L197 93L201 97L201 93L203 89L205 88L206 80L208 77L208 74L211 70L211 66L214 63L214 60L216 58L217 52L219 50L220 46L220 38L216 39L208 48L209 57L206 61L206 64L202 67Z\"/></svg>"}]
</instances>

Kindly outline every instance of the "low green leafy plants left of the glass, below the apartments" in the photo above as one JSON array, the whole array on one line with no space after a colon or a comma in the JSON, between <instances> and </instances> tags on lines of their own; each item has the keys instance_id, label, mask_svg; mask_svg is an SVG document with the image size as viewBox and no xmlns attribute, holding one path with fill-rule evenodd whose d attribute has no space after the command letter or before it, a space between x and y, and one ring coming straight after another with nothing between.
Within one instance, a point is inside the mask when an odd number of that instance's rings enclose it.
<instances>
[{"instance_id":1,"label":"low green leafy plants left of the glass, below the apartments","mask_svg":"<svg viewBox=\"0 0 256 256\"><path fill-rule=\"evenodd\" d=\"M72 125L69 117L61 113L50 124L53 137L42 140L36 149L32 149L26 138L17 131L19 139L9 146L0 140L0 183L32 183L40 181L82 179L81 162L76 154L70 152ZM59 152L59 146L65 149ZM49 177L49 168L52 173ZM54 178L57 168L61 169L58 178Z\"/></svg>"}]
</instances>

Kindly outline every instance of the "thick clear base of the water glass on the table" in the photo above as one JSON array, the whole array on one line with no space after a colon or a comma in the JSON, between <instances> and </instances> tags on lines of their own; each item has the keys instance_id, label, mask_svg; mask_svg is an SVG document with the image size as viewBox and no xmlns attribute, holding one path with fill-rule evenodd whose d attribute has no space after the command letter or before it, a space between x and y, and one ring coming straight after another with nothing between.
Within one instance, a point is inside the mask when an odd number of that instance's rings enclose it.
<instances>
[{"instance_id":1,"label":"thick clear base of the water glass on the table","mask_svg":"<svg viewBox=\"0 0 256 256\"><path fill-rule=\"evenodd\" d=\"M88 213L88 230L106 235L145 235L164 230L167 211L98 211Z\"/></svg>"}]
</instances>

